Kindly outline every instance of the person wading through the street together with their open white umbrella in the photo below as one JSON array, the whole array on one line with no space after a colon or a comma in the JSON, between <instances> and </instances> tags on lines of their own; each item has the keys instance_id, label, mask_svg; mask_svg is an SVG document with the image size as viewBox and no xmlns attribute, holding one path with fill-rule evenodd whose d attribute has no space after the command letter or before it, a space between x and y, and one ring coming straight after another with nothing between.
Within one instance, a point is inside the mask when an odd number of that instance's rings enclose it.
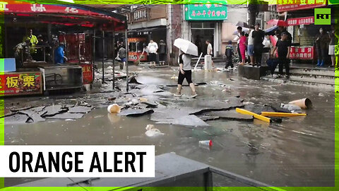
<instances>
[{"instance_id":1,"label":"person wading through the street together with their open white umbrella","mask_svg":"<svg viewBox=\"0 0 339 191\"><path fill-rule=\"evenodd\" d=\"M174 96L182 96L182 83L184 82L184 79L186 79L192 91L191 98L196 98L198 94L196 94L196 88L192 82L191 55L198 56L198 47L192 42L181 38L174 41L174 46L178 47L180 50L178 88L177 93L174 93Z\"/></svg>"}]
</instances>

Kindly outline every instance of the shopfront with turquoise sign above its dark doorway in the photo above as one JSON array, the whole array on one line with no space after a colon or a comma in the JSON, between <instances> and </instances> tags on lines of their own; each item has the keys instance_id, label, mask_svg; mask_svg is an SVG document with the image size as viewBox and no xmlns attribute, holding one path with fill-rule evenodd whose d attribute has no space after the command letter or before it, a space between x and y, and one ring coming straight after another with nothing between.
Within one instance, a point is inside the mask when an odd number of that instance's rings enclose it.
<instances>
[{"instance_id":1,"label":"shopfront with turquoise sign above its dark doorway","mask_svg":"<svg viewBox=\"0 0 339 191\"><path fill-rule=\"evenodd\" d=\"M213 56L221 50L222 21L227 19L227 6L222 4L191 4L184 6L185 20L189 22L189 37L198 46L199 53L207 52L206 40L213 46Z\"/></svg>"}]
</instances>

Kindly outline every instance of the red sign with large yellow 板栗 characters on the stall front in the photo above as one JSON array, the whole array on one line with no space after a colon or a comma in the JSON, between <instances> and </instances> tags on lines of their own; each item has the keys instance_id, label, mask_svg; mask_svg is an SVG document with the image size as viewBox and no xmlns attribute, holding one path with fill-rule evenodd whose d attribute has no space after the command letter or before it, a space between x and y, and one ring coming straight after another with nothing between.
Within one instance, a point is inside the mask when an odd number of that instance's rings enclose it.
<instances>
[{"instance_id":1,"label":"red sign with large yellow \u677f\u6817 characters on the stall front","mask_svg":"<svg viewBox=\"0 0 339 191\"><path fill-rule=\"evenodd\" d=\"M0 75L0 96L41 93L41 72L13 72Z\"/></svg>"}]
</instances>

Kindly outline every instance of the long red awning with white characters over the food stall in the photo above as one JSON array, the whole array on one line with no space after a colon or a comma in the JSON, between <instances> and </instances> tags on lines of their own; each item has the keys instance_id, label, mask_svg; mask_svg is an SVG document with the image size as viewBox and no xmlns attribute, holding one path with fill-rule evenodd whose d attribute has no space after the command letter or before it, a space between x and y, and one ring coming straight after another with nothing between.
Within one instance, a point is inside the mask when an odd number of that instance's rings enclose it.
<instances>
[{"instance_id":1,"label":"long red awning with white characters over the food stall","mask_svg":"<svg viewBox=\"0 0 339 191\"><path fill-rule=\"evenodd\" d=\"M6 4L5 20L27 23L52 23L57 25L100 26L103 30L126 29L126 17L83 5Z\"/></svg>"}]
</instances>

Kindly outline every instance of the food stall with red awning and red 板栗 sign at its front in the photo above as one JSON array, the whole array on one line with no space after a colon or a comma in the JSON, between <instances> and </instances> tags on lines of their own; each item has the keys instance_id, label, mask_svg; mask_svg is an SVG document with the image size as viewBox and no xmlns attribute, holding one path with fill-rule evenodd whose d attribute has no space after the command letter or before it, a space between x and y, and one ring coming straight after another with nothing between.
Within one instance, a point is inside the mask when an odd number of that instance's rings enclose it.
<instances>
[{"instance_id":1,"label":"food stall with red awning and red \u677f\u6817 sign at its front","mask_svg":"<svg viewBox=\"0 0 339 191\"><path fill-rule=\"evenodd\" d=\"M4 96L41 94L44 91L77 89L83 84L93 82L93 38L95 30L114 32L126 29L126 17L117 13L102 11L83 5L49 5L49 4L5 4L5 66L0 75L0 93ZM13 42L20 42L23 37L13 35L13 28L34 28L38 25L40 31L47 31L46 36L54 39L52 33L57 34L57 41L64 42L65 55L68 60L64 64L54 63L54 49L52 42L49 46L30 47L42 49L44 59L32 61L23 60L23 66L16 68L13 59ZM67 33L60 33L60 31ZM94 32L93 32L94 31ZM19 31L20 32L20 31ZM18 31L16 31L18 33ZM21 33L23 33L21 31ZM93 34L94 33L94 34ZM37 35L37 34L33 34ZM104 40L105 37L102 37ZM12 45L11 45L12 43ZM46 47L52 51L52 59L46 59Z\"/></svg>"}]
</instances>

